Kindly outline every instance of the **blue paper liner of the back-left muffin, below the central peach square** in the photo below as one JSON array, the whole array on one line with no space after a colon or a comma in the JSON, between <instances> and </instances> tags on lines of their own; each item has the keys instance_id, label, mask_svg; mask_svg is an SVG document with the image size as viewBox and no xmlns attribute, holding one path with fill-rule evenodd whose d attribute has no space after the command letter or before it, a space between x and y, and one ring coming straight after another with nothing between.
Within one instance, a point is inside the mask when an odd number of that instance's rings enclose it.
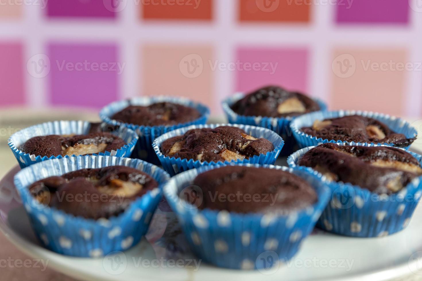
<instances>
[{"instance_id":1,"label":"blue paper liner of the back-left muffin, below the central peach square","mask_svg":"<svg viewBox=\"0 0 422 281\"><path fill-rule=\"evenodd\" d=\"M148 106L150 104L154 104L157 102L171 102L175 104L182 104L187 107L193 107L200 113L200 118L193 120L192 122L181 123L173 126L140 126L135 124L128 124L119 122L119 120L112 120L111 116L115 113L123 110L124 108L128 107L129 105L143 105ZM198 125L198 124L205 124L208 120L210 114L210 110L203 104L192 102L188 99L183 98L176 98L176 97L167 97L167 96L157 96L157 97L137 97L129 100L123 100L118 102L113 102L108 104L100 111L100 118L104 122L124 125L130 129L133 129L138 132L139 141L135 147L135 151L133 152L133 157L139 158L142 160L146 160L148 162L159 164L157 156L155 155L154 149L152 148L152 142L157 137L165 134L169 131L173 131L178 128L190 126L190 125Z\"/></svg>"}]
</instances>

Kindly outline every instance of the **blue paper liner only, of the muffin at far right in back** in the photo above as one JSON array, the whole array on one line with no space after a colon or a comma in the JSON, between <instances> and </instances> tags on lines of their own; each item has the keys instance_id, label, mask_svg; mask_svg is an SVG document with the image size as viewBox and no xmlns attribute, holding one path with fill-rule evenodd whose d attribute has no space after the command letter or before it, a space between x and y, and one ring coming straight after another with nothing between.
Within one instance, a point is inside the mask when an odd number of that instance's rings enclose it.
<instances>
[{"instance_id":1,"label":"blue paper liner only, of the muffin at far right in back","mask_svg":"<svg viewBox=\"0 0 422 281\"><path fill-rule=\"evenodd\" d=\"M395 131L398 134L404 134L406 138L409 138L409 139L417 136L416 128L412 127L410 123L408 123L406 120L403 120L401 118L397 118L394 116L382 114L382 113L360 111L360 110L338 110L338 111L308 113L293 120L292 123L290 123L290 128L300 148L320 145L322 143L327 143L327 142L333 142L333 143L344 142L342 140L333 140L333 139L329 140L329 139L317 138L316 136L305 134L300 129L303 127L312 126L315 120L324 120L327 118L338 118L338 117L344 117L348 115L361 115L361 116L379 120L385 125L387 125L392 131ZM392 143L391 144L378 143L378 145L395 146ZM409 147L410 145L404 148L408 149Z\"/></svg>"}]
</instances>

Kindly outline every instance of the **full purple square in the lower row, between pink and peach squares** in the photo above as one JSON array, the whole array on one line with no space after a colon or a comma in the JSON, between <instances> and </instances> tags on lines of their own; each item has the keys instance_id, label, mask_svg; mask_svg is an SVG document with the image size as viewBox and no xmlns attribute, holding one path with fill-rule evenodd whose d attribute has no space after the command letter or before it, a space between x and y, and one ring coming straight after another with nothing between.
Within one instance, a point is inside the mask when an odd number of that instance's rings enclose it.
<instances>
[{"instance_id":1,"label":"full purple square in the lower row, between pink and peach squares","mask_svg":"<svg viewBox=\"0 0 422 281\"><path fill-rule=\"evenodd\" d=\"M124 71L117 53L114 44L50 44L51 104L100 108L116 100Z\"/></svg>"}]
</instances>

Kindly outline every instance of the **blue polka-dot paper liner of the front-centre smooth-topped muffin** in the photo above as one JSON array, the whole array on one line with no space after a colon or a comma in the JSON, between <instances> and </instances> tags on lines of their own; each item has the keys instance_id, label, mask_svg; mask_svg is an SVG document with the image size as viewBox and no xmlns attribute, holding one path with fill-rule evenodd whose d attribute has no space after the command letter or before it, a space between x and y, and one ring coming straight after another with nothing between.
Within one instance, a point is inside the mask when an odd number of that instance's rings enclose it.
<instances>
[{"instance_id":1,"label":"blue polka-dot paper liner of the front-centre smooth-topped muffin","mask_svg":"<svg viewBox=\"0 0 422 281\"><path fill-rule=\"evenodd\" d=\"M276 216L199 210L180 199L184 188L191 185L198 174L227 165L205 166L178 174L164 186L164 194L177 214L187 241L200 259L225 268L267 270L296 254L325 208L330 190L316 173L309 171L273 165L238 165L297 174L315 187L318 202L306 209Z\"/></svg>"}]
</instances>

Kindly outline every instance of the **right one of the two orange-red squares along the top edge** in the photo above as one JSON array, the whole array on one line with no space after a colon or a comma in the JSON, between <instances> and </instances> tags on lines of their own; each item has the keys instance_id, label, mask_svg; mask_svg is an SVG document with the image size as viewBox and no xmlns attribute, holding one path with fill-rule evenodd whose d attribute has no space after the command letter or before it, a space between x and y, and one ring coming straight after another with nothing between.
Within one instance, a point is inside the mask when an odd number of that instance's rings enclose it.
<instances>
[{"instance_id":1,"label":"right one of the two orange-red squares along the top edge","mask_svg":"<svg viewBox=\"0 0 422 281\"><path fill-rule=\"evenodd\" d=\"M312 1L238 0L240 21L308 22Z\"/></svg>"}]
</instances>

